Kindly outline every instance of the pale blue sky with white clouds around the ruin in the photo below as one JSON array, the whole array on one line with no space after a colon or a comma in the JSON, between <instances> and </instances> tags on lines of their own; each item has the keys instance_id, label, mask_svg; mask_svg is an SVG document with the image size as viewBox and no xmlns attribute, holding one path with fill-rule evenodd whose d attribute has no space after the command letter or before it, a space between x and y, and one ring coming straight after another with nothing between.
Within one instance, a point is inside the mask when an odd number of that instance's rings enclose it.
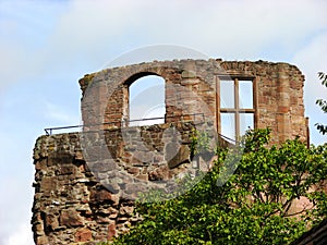
<instances>
[{"instance_id":1,"label":"pale blue sky with white clouds around the ruin","mask_svg":"<svg viewBox=\"0 0 327 245\"><path fill-rule=\"evenodd\" d=\"M326 9L324 0L0 0L0 245L33 244L35 139L45 127L80 124L78 78L129 62L117 58L131 50L173 45L295 64L306 77L311 139L324 143L313 125L326 122L315 106L327 97L316 75L327 72Z\"/></svg>"}]
</instances>

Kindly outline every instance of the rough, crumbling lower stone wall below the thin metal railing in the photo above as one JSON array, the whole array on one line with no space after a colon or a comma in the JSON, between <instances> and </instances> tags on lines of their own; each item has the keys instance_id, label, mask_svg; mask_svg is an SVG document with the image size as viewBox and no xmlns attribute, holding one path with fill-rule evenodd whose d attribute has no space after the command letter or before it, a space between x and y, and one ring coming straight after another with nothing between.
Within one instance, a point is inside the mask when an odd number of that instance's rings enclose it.
<instances>
[{"instance_id":1,"label":"rough, crumbling lower stone wall below the thin metal railing","mask_svg":"<svg viewBox=\"0 0 327 245\"><path fill-rule=\"evenodd\" d=\"M173 158L165 159L171 150L171 140L165 138L169 128L179 131L180 150ZM114 162L121 163L120 173L125 172L124 179L107 188L106 181L117 177L110 175L112 166L108 162L87 164L81 133L39 137L34 149L36 172L32 219L36 244L99 242L128 231L141 220L133 213L131 197L136 195L135 184L170 180L187 167L197 168L190 158L192 128L194 124L185 122L131 127L124 132L106 130L107 150ZM148 148L136 154L134 150L140 144Z\"/></svg>"}]
</instances>

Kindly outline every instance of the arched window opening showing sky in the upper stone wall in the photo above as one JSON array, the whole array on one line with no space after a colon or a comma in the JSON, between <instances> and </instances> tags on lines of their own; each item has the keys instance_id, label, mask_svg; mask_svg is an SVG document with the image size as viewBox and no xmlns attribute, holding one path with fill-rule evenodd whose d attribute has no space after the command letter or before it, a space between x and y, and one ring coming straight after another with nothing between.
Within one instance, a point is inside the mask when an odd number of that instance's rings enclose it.
<instances>
[{"instance_id":1,"label":"arched window opening showing sky in the upper stone wall","mask_svg":"<svg viewBox=\"0 0 327 245\"><path fill-rule=\"evenodd\" d=\"M130 126L165 123L165 79L147 75L136 79L129 87Z\"/></svg>"}]
</instances>

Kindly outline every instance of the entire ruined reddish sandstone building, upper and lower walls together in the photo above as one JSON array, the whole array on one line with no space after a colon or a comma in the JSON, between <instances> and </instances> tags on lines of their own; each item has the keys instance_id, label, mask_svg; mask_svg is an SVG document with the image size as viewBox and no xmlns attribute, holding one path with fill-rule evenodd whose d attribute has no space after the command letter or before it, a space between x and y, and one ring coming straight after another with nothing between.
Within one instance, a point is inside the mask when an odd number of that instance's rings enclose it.
<instances>
[{"instance_id":1,"label":"entire ruined reddish sandstone building, upper and lower walls together","mask_svg":"<svg viewBox=\"0 0 327 245\"><path fill-rule=\"evenodd\" d=\"M148 75L165 81L164 121L132 126L130 86ZM129 197L144 183L209 163L209 158L197 164L190 158L193 128L206 130L221 144L227 143L218 135L237 140L249 126L270 127L275 144L295 136L308 140L303 84L301 71L287 63L214 59L155 61L85 75L80 79L83 133L44 135L35 145L36 244L93 244L128 231L142 219Z\"/></svg>"}]
</instances>

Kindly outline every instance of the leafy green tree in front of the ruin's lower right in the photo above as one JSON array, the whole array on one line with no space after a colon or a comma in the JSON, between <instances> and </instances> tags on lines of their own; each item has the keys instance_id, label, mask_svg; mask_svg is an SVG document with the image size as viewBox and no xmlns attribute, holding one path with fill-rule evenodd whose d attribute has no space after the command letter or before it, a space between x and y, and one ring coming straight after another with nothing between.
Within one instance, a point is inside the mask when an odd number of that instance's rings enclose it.
<instances>
[{"instance_id":1,"label":"leafy green tree in front of the ruin's lower right","mask_svg":"<svg viewBox=\"0 0 327 245\"><path fill-rule=\"evenodd\" d=\"M306 148L296 138L267 147L269 133L247 131L242 156L229 149L234 154L227 158L227 149L216 149L211 171L184 195L136 204L144 220L113 244L288 244L299 237L326 218L320 186L327 144ZM235 173L218 186L219 173L235 160ZM294 210L299 198L307 198L311 207Z\"/></svg>"}]
</instances>

